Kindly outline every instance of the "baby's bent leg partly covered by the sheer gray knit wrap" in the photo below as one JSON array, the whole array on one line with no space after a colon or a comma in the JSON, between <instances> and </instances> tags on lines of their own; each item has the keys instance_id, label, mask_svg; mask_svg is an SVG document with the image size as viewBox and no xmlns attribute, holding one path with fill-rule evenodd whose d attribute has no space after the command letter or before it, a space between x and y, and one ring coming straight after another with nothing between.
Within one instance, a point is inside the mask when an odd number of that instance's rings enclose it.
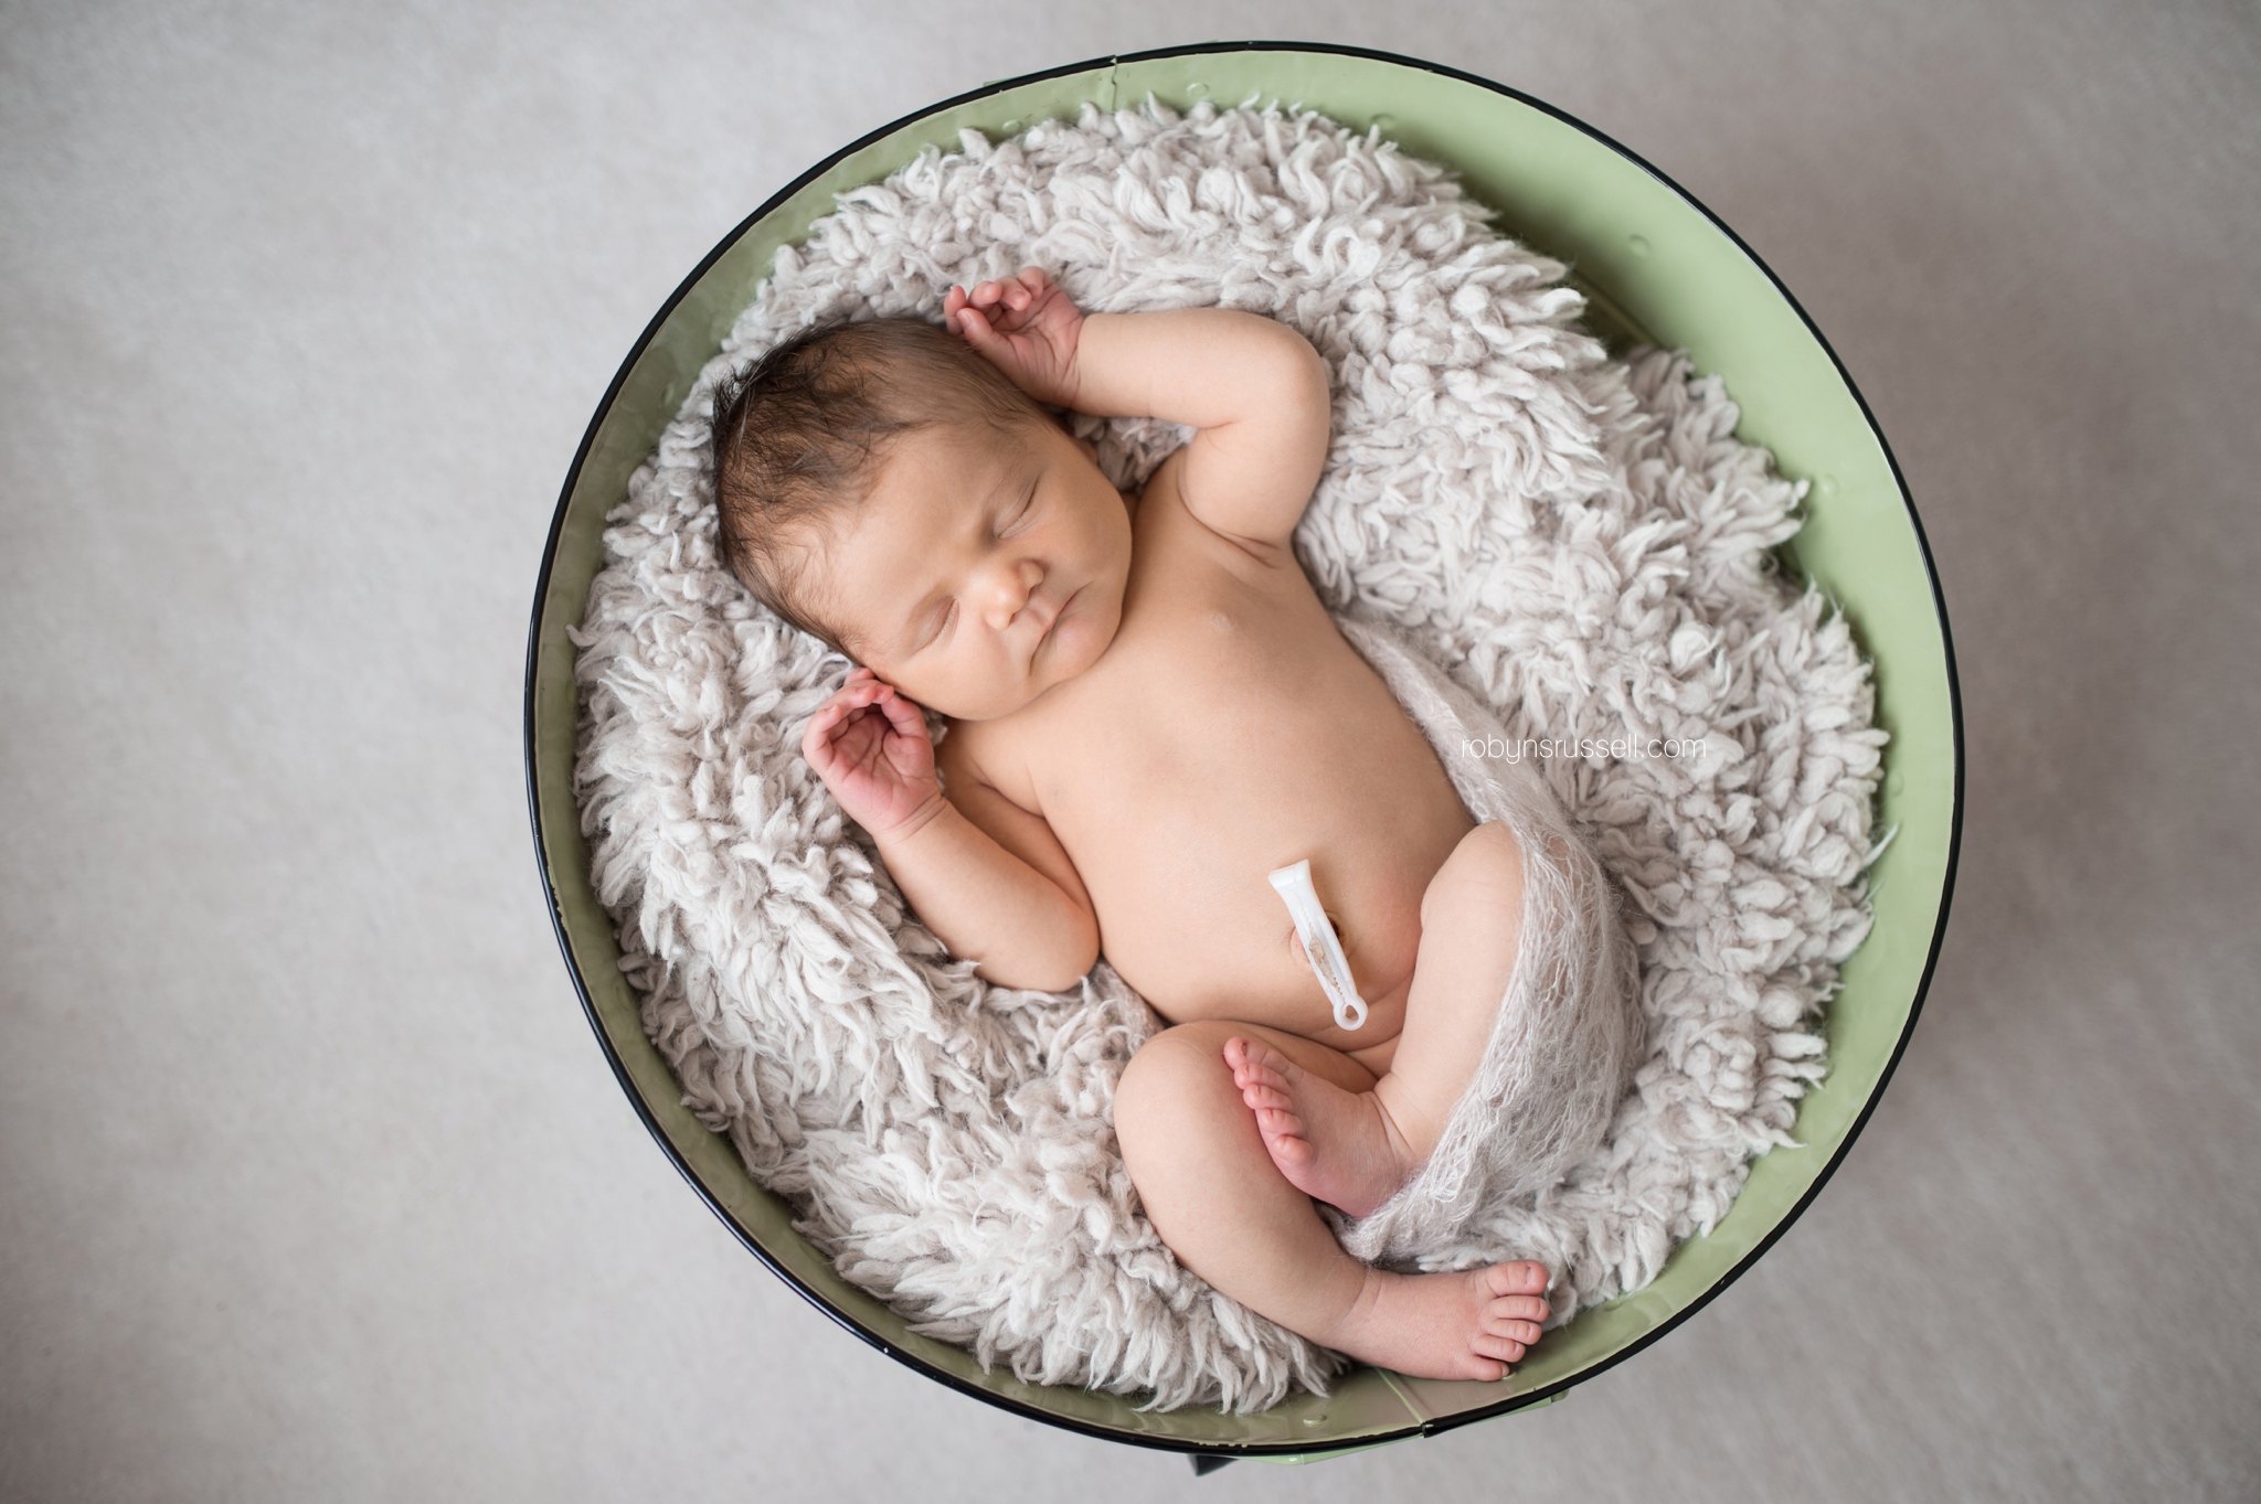
<instances>
[{"instance_id":1,"label":"baby's bent leg partly covered by the sheer gray knit wrap","mask_svg":"<svg viewBox=\"0 0 2261 1504\"><path fill-rule=\"evenodd\" d=\"M1363 1217L1429 1163L1492 1039L1522 912L1522 849L1497 820L1479 824L1422 894L1404 1030L1370 1088L1311 1073L1248 1030L1225 1041L1225 1064L1282 1177Z\"/></svg>"}]
</instances>

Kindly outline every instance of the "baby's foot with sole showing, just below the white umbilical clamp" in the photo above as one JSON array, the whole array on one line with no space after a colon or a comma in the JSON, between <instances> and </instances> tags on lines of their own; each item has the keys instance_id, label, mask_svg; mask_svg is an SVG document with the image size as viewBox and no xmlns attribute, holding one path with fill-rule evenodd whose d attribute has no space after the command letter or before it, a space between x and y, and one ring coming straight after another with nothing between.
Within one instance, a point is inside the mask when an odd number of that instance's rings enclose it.
<instances>
[{"instance_id":1,"label":"baby's foot with sole showing, just below the white umbilical clamp","mask_svg":"<svg viewBox=\"0 0 2261 1504\"><path fill-rule=\"evenodd\" d=\"M1370 1091L1343 1091L1262 1039L1228 1039L1225 1064L1289 1186L1363 1217L1413 1179L1404 1140Z\"/></svg>"}]
</instances>

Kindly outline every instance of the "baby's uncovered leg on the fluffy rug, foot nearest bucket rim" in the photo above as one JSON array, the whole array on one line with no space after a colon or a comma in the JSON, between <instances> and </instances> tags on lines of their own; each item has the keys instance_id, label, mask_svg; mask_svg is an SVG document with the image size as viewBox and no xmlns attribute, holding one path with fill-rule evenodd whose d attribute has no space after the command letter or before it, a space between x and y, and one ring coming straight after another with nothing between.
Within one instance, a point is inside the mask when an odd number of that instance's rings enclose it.
<instances>
[{"instance_id":1,"label":"baby's uncovered leg on the fluffy rug, foot nearest bucket rim","mask_svg":"<svg viewBox=\"0 0 2261 1504\"><path fill-rule=\"evenodd\" d=\"M1309 1039L1187 1023L1146 1041L1115 1091L1115 1131L1146 1217L1187 1269L1311 1341L1418 1378L1501 1378L1540 1337L1547 1269L1388 1274L1343 1253L1311 1197L1273 1165L1223 1061L1257 1039L1311 1079L1372 1075Z\"/></svg>"}]
</instances>

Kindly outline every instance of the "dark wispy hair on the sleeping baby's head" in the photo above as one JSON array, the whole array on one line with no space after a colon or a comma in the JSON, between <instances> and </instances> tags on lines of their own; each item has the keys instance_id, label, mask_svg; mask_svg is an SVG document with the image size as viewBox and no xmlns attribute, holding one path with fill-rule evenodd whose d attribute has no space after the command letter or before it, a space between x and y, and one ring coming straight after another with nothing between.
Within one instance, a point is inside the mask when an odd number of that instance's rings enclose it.
<instances>
[{"instance_id":1,"label":"dark wispy hair on the sleeping baby's head","mask_svg":"<svg viewBox=\"0 0 2261 1504\"><path fill-rule=\"evenodd\" d=\"M861 504L898 436L963 418L999 431L1047 422L972 346L918 318L823 323L773 346L714 388L724 562L762 605L848 653L796 592L814 540L789 533Z\"/></svg>"}]
</instances>

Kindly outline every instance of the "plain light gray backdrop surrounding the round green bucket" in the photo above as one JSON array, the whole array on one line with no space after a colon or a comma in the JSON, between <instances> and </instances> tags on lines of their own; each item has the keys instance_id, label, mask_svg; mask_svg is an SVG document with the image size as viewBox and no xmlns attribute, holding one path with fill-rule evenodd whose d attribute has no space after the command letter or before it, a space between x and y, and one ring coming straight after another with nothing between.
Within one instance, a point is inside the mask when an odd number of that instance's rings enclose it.
<instances>
[{"instance_id":1,"label":"plain light gray backdrop surrounding the round green bucket","mask_svg":"<svg viewBox=\"0 0 2261 1504\"><path fill-rule=\"evenodd\" d=\"M2250 1499L2245 5L0 5L0 1497L1160 1499L764 1274L581 1023L518 689L556 488L739 217L984 79L1296 36L1646 154L1940 558L1956 921L1804 1219L1565 1405L1239 1497Z\"/></svg>"}]
</instances>

